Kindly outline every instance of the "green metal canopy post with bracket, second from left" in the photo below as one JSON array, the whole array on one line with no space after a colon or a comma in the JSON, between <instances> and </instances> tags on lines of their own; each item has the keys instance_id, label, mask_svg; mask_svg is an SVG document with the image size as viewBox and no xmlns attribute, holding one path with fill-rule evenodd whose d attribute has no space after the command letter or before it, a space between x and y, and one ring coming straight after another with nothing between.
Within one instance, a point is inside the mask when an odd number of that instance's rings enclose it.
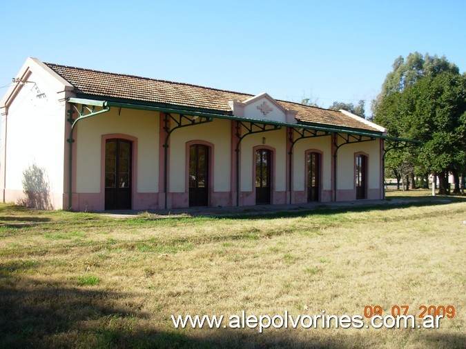
<instances>
[{"instance_id":1,"label":"green metal canopy post with bracket, second from left","mask_svg":"<svg viewBox=\"0 0 466 349\"><path fill-rule=\"evenodd\" d=\"M178 118L173 117L172 114L166 112L164 117L164 131L166 132L165 143L164 143L164 192L165 192L165 208L167 208L168 201L168 140L171 134L179 128L186 128L190 126L201 125L202 123L209 123L213 121L213 117L200 117L197 115L186 116L184 114L178 114ZM173 121L176 126L170 128L168 121Z\"/></svg>"}]
</instances>

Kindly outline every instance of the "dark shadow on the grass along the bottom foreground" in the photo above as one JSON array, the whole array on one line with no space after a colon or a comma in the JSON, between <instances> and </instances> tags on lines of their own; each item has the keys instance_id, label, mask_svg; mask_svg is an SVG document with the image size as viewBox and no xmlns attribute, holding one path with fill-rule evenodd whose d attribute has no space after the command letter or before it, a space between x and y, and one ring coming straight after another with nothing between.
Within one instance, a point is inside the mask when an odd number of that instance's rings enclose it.
<instances>
[{"instance_id":1,"label":"dark shadow on the grass along the bottom foreground","mask_svg":"<svg viewBox=\"0 0 466 349\"><path fill-rule=\"evenodd\" d=\"M31 267L33 268L33 267ZM327 339L297 339L295 330L159 330L136 306L137 295L77 288L3 268L0 275L1 348L369 348L377 336L331 330ZM137 303L137 302L136 302ZM122 306L122 304L124 306ZM157 323L155 323L157 326ZM422 348L460 348L465 335L429 332Z\"/></svg>"}]
</instances>

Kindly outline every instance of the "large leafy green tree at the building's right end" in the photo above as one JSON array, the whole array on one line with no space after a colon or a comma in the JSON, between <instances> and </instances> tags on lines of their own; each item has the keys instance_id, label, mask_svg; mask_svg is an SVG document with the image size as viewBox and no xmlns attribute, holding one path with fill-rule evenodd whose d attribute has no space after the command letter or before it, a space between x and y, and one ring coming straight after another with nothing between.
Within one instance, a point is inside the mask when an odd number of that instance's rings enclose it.
<instances>
[{"instance_id":1,"label":"large leafy green tree at the building's right end","mask_svg":"<svg viewBox=\"0 0 466 349\"><path fill-rule=\"evenodd\" d=\"M390 135L423 141L423 146L402 156L387 154L389 166L396 169L408 161L414 170L424 171L422 175L434 172L440 193L447 192L449 172L455 177L454 192L459 192L459 174L466 168L466 77L438 72L451 67L445 61L438 67L427 66L415 82L411 75L410 83L402 80L405 85L380 99L375 114L376 122L388 128Z\"/></svg>"}]
</instances>

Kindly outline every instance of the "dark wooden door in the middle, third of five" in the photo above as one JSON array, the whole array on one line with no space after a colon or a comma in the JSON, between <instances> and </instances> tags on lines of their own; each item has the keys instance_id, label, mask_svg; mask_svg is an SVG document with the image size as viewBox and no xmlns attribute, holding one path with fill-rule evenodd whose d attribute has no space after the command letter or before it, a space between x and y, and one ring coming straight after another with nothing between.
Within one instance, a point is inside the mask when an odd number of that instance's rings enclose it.
<instances>
[{"instance_id":1,"label":"dark wooden door in the middle, third of five","mask_svg":"<svg viewBox=\"0 0 466 349\"><path fill-rule=\"evenodd\" d=\"M255 152L255 203L270 203L271 151L259 149Z\"/></svg>"}]
</instances>

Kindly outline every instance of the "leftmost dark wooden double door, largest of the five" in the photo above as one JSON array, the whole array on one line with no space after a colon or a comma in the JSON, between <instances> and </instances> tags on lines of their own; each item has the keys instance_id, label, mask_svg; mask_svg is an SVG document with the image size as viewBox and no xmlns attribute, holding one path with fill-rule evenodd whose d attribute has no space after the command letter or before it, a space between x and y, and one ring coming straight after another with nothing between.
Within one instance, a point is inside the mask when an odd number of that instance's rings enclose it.
<instances>
[{"instance_id":1,"label":"leftmost dark wooden double door, largest of the five","mask_svg":"<svg viewBox=\"0 0 466 349\"><path fill-rule=\"evenodd\" d=\"M131 208L132 143L107 139L105 144L105 209Z\"/></svg>"}]
</instances>

